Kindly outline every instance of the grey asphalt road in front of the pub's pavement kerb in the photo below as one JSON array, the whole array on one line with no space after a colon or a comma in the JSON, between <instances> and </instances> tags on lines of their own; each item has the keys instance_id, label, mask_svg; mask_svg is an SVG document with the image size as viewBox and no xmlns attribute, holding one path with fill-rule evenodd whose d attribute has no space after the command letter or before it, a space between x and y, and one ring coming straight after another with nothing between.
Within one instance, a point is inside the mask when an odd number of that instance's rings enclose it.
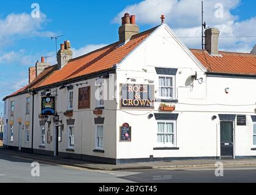
<instances>
[{"instance_id":1,"label":"grey asphalt road in front of the pub's pavement kerb","mask_svg":"<svg viewBox=\"0 0 256 195\"><path fill-rule=\"evenodd\" d=\"M136 171L97 171L73 166L40 163L40 176L31 176L33 160L0 151L0 183L5 182L92 182L92 183L176 183L176 182L256 182L256 166L225 167L224 177L216 177L216 168L149 169ZM34 170L34 169L33 169ZM35 173L34 171L32 171ZM38 173L38 172L37 172Z\"/></svg>"}]
</instances>

